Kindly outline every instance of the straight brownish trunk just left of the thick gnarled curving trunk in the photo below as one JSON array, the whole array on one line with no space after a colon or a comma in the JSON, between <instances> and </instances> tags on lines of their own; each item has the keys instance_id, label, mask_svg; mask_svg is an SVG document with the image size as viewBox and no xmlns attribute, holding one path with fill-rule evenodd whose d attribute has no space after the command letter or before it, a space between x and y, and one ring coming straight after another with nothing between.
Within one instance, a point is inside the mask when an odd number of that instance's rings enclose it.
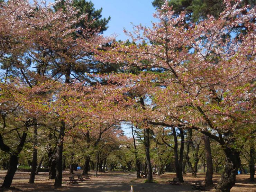
<instances>
[{"instance_id":1,"label":"straight brownish trunk just left of the thick gnarled curving trunk","mask_svg":"<svg viewBox=\"0 0 256 192\"><path fill-rule=\"evenodd\" d=\"M208 136L203 137L204 140L204 149L205 149L205 157L206 157L206 164L207 170L205 174L205 182L206 186L213 184L212 182L212 174L213 174L213 166L212 166L212 153L211 153L211 145L210 145L210 138Z\"/></svg>"}]
</instances>

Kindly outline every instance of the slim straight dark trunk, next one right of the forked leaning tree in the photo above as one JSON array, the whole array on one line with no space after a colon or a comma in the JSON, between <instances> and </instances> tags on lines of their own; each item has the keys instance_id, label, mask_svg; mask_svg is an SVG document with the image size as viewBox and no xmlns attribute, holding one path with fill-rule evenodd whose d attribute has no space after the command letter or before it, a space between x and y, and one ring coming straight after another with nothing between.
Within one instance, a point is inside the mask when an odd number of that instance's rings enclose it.
<instances>
[{"instance_id":1,"label":"slim straight dark trunk, next one right of the forked leaning tree","mask_svg":"<svg viewBox=\"0 0 256 192\"><path fill-rule=\"evenodd\" d=\"M35 125L34 127L34 142L33 142L33 159L32 159L32 166L31 166L31 173L29 177L28 183L35 183L35 175L36 175L36 166L37 166L37 120L33 120Z\"/></svg>"}]
</instances>

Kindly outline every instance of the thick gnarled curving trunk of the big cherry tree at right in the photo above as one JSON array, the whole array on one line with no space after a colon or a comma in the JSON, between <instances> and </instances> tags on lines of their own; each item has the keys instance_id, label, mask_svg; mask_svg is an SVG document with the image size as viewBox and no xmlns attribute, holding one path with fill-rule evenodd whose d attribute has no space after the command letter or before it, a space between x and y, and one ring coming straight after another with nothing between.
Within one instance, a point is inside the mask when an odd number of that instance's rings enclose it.
<instances>
[{"instance_id":1,"label":"thick gnarled curving trunk of the big cherry tree at right","mask_svg":"<svg viewBox=\"0 0 256 192\"><path fill-rule=\"evenodd\" d=\"M236 175L241 165L240 152L232 148L235 145L235 138L231 131L224 134L225 145L223 145L226 154L226 165L220 179L216 185L216 192L229 192L236 183Z\"/></svg>"}]
</instances>

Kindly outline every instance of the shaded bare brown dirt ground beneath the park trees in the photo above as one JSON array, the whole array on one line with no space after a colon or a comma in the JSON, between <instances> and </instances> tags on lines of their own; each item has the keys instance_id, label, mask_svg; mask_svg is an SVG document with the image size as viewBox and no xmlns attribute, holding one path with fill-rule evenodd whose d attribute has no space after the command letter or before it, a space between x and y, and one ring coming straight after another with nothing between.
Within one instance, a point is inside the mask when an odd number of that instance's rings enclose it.
<instances>
[{"instance_id":1,"label":"shaded bare brown dirt ground beneath the park trees","mask_svg":"<svg viewBox=\"0 0 256 192\"><path fill-rule=\"evenodd\" d=\"M75 172L81 174L82 171ZM0 184L3 182L6 171L0 171ZM131 185L137 192L188 192L192 190L191 183L194 181L203 181L204 173L198 173L197 178L191 177L191 174L184 174L184 183L180 185L170 185L168 180L175 177L175 173L166 173L164 175L153 176L157 183L144 183L145 179L136 179L135 172L108 172L99 173L98 177L95 173L90 172L90 180L79 182L78 184L68 184L68 171L63 172L63 188L54 190L54 180L48 180L48 173L39 173L36 175L35 184L29 184L28 172L16 172L12 188L4 191L70 191L70 192L129 192ZM217 182L220 174L213 174L214 183ZM231 192L256 192L256 184L249 182L249 175L238 175L236 185ZM1 189L0 189L1 191ZM3 190L2 190L3 191ZM214 185L206 188L206 191L214 191Z\"/></svg>"}]
</instances>

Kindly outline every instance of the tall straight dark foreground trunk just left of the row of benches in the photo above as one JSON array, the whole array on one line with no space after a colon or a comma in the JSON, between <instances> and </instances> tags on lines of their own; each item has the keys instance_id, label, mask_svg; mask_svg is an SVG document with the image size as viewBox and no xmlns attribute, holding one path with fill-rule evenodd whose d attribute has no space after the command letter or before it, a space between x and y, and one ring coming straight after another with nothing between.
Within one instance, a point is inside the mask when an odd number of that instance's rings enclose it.
<instances>
[{"instance_id":1,"label":"tall straight dark foreground trunk just left of the row of benches","mask_svg":"<svg viewBox=\"0 0 256 192\"><path fill-rule=\"evenodd\" d=\"M60 134L58 136L56 148L56 177L54 188L61 188L62 183L62 152L63 152L63 139L65 135L65 122L61 121Z\"/></svg>"}]
</instances>

